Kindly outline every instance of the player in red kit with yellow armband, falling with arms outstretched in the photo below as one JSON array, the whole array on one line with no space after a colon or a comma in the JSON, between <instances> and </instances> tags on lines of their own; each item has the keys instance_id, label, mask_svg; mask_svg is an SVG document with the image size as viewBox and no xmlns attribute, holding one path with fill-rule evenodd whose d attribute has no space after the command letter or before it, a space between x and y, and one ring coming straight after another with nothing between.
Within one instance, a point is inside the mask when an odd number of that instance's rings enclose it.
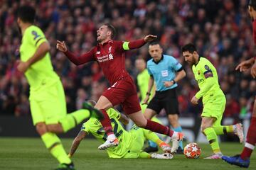
<instances>
[{"instance_id":1,"label":"player in red kit with yellow armband, falling with arms outstretched","mask_svg":"<svg viewBox=\"0 0 256 170\"><path fill-rule=\"evenodd\" d=\"M153 132L169 135L173 140L182 140L183 134L174 132L170 128L160 125L151 120L146 120L139 106L139 98L137 96L136 86L132 77L125 69L125 51L142 47L146 42L156 39L156 35L146 35L144 38L131 42L112 40L114 38L115 29L109 23L102 25L97 30L97 45L89 52L85 52L81 56L75 56L65 45L65 42L57 41L57 49L63 52L68 59L76 65L85 64L87 62L96 61L105 77L110 82L108 88L97 101L95 108L102 111L105 119L101 120L102 126L107 133L107 140L100 145L99 149L117 146L119 142L116 135L112 131L110 118L106 110L118 104L122 104L124 112L131 118L140 128L145 128ZM172 149L174 150L174 149Z\"/></svg>"}]
</instances>

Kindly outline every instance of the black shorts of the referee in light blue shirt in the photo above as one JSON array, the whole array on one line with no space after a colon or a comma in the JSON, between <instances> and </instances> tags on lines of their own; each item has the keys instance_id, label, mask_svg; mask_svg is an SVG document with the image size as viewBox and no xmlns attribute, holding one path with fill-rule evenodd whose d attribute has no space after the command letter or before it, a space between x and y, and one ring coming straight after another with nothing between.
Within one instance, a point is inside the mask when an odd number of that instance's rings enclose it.
<instances>
[{"instance_id":1,"label":"black shorts of the referee in light blue shirt","mask_svg":"<svg viewBox=\"0 0 256 170\"><path fill-rule=\"evenodd\" d=\"M179 114L176 88L156 91L154 98L151 99L147 108L156 111L157 114L159 114L162 108L165 109L167 115Z\"/></svg>"}]
</instances>

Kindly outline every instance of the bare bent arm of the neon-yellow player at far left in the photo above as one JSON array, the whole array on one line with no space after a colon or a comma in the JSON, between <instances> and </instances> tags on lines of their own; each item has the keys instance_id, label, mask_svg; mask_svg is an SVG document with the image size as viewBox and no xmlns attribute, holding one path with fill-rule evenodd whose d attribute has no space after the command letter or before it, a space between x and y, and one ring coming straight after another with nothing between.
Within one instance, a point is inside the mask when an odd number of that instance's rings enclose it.
<instances>
[{"instance_id":1,"label":"bare bent arm of the neon-yellow player at far left","mask_svg":"<svg viewBox=\"0 0 256 170\"><path fill-rule=\"evenodd\" d=\"M32 64L34 64L35 62L37 62L38 60L41 60L47 52L49 52L50 50L50 45L48 42L43 42L38 49L36 50L36 52L34 53L33 57L31 57L29 60L27 60L26 62L19 62L18 63L18 71L20 72L26 72L26 70L31 67Z\"/></svg>"}]
</instances>

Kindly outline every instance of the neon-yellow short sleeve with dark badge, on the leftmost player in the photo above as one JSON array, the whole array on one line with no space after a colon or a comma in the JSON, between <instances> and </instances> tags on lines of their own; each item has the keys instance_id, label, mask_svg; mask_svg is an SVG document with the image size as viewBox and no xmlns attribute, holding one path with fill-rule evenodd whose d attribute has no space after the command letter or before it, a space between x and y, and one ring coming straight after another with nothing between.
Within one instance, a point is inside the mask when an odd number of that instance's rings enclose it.
<instances>
[{"instance_id":1,"label":"neon-yellow short sleeve with dark badge, on the leftmost player","mask_svg":"<svg viewBox=\"0 0 256 170\"><path fill-rule=\"evenodd\" d=\"M47 42L43 31L40 28L34 28L28 30L26 38L36 47L39 47L43 42Z\"/></svg>"}]
</instances>

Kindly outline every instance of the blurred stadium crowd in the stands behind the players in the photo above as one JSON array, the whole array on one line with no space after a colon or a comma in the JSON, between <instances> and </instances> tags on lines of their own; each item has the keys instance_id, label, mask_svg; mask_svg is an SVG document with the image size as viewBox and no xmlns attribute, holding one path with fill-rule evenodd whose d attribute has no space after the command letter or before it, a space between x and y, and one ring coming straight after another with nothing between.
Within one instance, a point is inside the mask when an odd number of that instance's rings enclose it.
<instances>
[{"instance_id":1,"label":"blurred stadium crowd in the stands behind the players","mask_svg":"<svg viewBox=\"0 0 256 170\"><path fill-rule=\"evenodd\" d=\"M193 42L200 55L218 69L227 98L224 115L250 117L256 81L250 72L235 71L238 62L255 55L247 0L0 1L0 115L30 114L28 83L16 69L21 43L16 11L22 4L31 4L37 10L36 25L50 42L51 59L63 82L68 112L81 108L85 99L97 101L108 84L96 62L76 67L56 50L56 40L65 41L70 50L82 54L96 44L97 28L111 23L117 30L116 40L158 35L164 53L183 64L187 77L178 88L181 116L197 116L201 111L201 106L190 103L198 86L181 55L181 46ZM138 57L149 60L148 48L127 52L126 67L134 79Z\"/></svg>"}]
</instances>

